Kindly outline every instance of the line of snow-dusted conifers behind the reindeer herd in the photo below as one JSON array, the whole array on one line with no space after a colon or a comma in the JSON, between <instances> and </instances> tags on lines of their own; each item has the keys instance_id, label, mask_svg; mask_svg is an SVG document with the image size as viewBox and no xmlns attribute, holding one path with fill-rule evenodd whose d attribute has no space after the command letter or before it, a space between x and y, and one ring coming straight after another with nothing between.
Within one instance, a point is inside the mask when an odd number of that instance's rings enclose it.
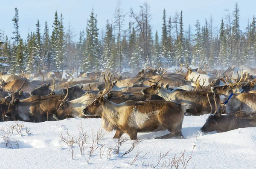
<instances>
[{"instance_id":1,"label":"line of snow-dusted conifers behind the reindeer herd","mask_svg":"<svg viewBox=\"0 0 256 169\"><path fill-rule=\"evenodd\" d=\"M71 24L64 28L64 17L57 11L52 32L45 21L42 34L38 20L35 32L29 32L26 38L21 37L19 11L15 8L12 37L5 35L3 30L0 32L0 68L10 73L20 73L21 70L37 72L41 68L62 72L73 68L80 72L95 69L122 72L123 69L157 65L177 66L177 63L224 68L250 66L256 62L255 17L252 22L248 21L245 32L242 32L238 3L232 13L225 11L218 30L210 16L203 25L197 20L194 31L190 25L185 31L182 11L171 17L163 9L161 33L152 32L147 2L140 6L139 11L131 8L128 13L124 13L120 6L118 0L114 21L107 20L102 32L99 32L97 15L92 9L86 29L79 33L78 42L74 41L76 34ZM128 28L124 26L126 15L131 19Z\"/></svg>"}]
</instances>

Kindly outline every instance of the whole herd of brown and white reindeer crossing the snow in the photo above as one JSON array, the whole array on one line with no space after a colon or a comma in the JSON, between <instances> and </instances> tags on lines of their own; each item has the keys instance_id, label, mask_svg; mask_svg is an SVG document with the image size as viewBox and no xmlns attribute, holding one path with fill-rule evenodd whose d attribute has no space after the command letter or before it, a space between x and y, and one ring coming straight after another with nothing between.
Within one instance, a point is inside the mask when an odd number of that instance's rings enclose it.
<instances>
[{"instance_id":1,"label":"whole herd of brown and white reindeer crossing the snow","mask_svg":"<svg viewBox=\"0 0 256 169\"><path fill-rule=\"evenodd\" d=\"M138 132L168 130L157 138L183 138L184 115L210 114L202 132L256 127L256 69L225 71L147 68L137 74L81 72L0 73L0 121L44 122L102 118L102 127L137 139ZM214 113L212 113L214 111Z\"/></svg>"}]
</instances>

